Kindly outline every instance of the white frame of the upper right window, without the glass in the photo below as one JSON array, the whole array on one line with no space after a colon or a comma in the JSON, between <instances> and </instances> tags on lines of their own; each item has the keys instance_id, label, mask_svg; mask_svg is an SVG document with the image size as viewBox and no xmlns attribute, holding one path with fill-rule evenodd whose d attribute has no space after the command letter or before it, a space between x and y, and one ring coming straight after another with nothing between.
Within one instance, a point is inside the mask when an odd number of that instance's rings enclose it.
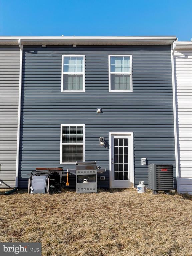
<instances>
[{"instance_id":1,"label":"white frame of the upper right window, without the glass","mask_svg":"<svg viewBox=\"0 0 192 256\"><path fill-rule=\"evenodd\" d=\"M130 57L130 70L131 72L111 72L111 57ZM130 86L131 90L111 90L111 74L130 74ZM109 92L133 92L133 82L132 82L132 55L109 55Z\"/></svg>"}]
</instances>

